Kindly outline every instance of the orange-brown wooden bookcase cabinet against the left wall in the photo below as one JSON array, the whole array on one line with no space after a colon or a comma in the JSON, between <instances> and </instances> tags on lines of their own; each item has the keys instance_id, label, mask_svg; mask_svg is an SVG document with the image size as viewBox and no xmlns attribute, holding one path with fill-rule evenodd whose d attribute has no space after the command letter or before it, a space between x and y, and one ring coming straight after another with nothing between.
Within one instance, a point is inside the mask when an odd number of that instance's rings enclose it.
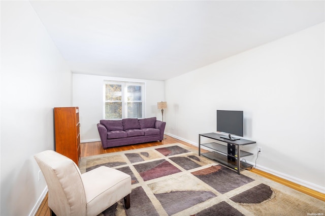
<instances>
[{"instance_id":1,"label":"orange-brown wooden bookcase cabinet against the left wall","mask_svg":"<svg viewBox=\"0 0 325 216\"><path fill-rule=\"evenodd\" d=\"M55 107L55 151L72 159L80 160L79 107Z\"/></svg>"}]
</instances>

